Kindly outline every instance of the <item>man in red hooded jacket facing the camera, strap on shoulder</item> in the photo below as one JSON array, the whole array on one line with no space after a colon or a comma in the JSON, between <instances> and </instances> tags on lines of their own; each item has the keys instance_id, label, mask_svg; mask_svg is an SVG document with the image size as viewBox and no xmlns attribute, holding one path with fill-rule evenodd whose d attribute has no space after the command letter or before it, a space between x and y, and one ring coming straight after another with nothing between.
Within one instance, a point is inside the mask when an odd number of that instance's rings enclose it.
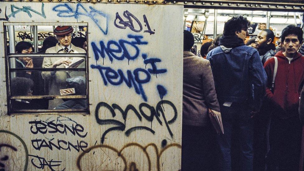
<instances>
[{"instance_id":1,"label":"man in red hooded jacket facing the camera, strap on shoulder","mask_svg":"<svg viewBox=\"0 0 304 171\"><path fill-rule=\"evenodd\" d=\"M266 97L272 104L268 124L267 170L299 170L302 125L299 97L304 84L304 56L297 51L303 41L300 27L289 25L282 31L285 52L278 52L278 69L272 88L275 59L265 62L268 76Z\"/></svg>"}]
</instances>

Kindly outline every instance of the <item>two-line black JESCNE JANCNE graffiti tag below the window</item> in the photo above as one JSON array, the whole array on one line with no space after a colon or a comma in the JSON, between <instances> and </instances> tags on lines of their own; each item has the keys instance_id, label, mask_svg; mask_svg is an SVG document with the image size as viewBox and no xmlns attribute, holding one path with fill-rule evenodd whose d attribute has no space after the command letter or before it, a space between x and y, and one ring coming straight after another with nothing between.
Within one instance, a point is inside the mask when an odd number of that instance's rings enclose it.
<instances>
[{"instance_id":1,"label":"two-line black JESCNE JANCNE graffiti tag below the window","mask_svg":"<svg viewBox=\"0 0 304 171\"><path fill-rule=\"evenodd\" d=\"M50 118L49 118L50 119ZM78 135L80 138L85 138L88 134L88 132L84 132L84 128L82 125L78 124L77 122L71 120L68 117L64 116L59 116L57 117L56 123L54 122L55 120L52 121L29 121L29 124L31 124L31 133L33 134L38 134L41 133L45 135L46 133L49 134L55 134L55 133L60 133L60 134L65 134L67 135L72 134L74 136ZM62 122L68 121L69 123L72 123L72 126L68 126L67 124L63 124ZM75 125L74 125L75 124ZM48 138L47 138L48 139ZM81 140L76 142L76 145L65 140L59 140L57 139L57 142L54 143L55 138L48 139L47 140L42 140L42 139L35 139L31 140L32 146L36 150L40 150L42 147L49 148L50 150L53 150L53 147L55 147L58 150L69 150L71 151L71 148L77 150L78 152L80 150L85 151L84 149L88 147L88 143Z\"/></svg>"}]
</instances>

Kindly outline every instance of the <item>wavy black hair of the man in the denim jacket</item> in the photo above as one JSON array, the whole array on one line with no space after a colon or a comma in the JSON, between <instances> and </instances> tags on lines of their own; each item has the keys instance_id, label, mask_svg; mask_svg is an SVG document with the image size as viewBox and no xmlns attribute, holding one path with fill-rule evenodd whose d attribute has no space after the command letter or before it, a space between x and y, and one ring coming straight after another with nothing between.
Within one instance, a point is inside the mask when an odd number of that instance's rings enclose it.
<instances>
[{"instance_id":1,"label":"wavy black hair of the man in the denim jacket","mask_svg":"<svg viewBox=\"0 0 304 171\"><path fill-rule=\"evenodd\" d=\"M223 35L233 36L235 35L235 31L247 30L249 26L250 21L248 21L246 17L241 15L233 16L225 22Z\"/></svg>"}]
</instances>

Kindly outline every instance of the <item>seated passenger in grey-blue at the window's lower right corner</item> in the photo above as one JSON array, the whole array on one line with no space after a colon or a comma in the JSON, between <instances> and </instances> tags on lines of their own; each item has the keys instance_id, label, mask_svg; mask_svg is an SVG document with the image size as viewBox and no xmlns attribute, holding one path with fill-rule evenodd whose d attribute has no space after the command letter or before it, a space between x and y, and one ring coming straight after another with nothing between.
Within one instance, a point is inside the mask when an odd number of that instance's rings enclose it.
<instances>
[{"instance_id":1,"label":"seated passenger in grey-blue at the window's lower right corner","mask_svg":"<svg viewBox=\"0 0 304 171\"><path fill-rule=\"evenodd\" d=\"M68 78L66 80L67 88L75 88L75 93L71 95L85 95L86 94L86 80L84 77L77 76ZM55 109L85 109L87 108L87 101L85 99L63 99L61 105L56 107Z\"/></svg>"}]
</instances>

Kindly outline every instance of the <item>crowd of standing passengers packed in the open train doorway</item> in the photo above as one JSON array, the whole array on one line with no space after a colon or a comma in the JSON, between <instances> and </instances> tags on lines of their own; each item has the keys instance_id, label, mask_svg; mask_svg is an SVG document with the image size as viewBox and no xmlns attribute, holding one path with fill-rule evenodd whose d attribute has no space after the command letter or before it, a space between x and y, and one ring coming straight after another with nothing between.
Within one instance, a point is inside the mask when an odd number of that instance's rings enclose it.
<instances>
[{"instance_id":1,"label":"crowd of standing passengers packed in the open train doorway","mask_svg":"<svg viewBox=\"0 0 304 171\"><path fill-rule=\"evenodd\" d=\"M288 25L275 46L264 29L245 44L249 26L245 17L230 18L201 57L184 31L182 170L299 170L303 31ZM208 109L221 112L224 133Z\"/></svg>"}]
</instances>

